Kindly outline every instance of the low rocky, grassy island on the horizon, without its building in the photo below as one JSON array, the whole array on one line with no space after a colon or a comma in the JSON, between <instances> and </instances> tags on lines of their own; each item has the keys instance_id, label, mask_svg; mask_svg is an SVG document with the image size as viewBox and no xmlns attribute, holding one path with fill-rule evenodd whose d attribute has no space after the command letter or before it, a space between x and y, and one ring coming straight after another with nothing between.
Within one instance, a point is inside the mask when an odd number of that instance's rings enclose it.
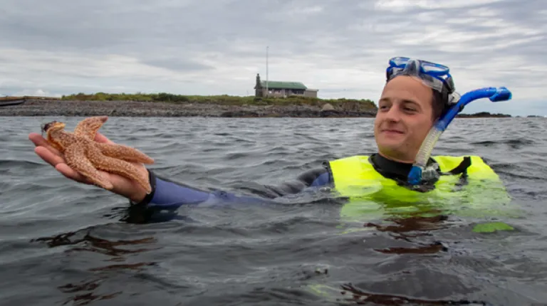
<instances>
[{"instance_id":1,"label":"low rocky, grassy island on the horizon, without its building","mask_svg":"<svg viewBox=\"0 0 547 306\"><path fill-rule=\"evenodd\" d=\"M368 99L289 95L175 95L172 93L78 93L62 97L3 97L0 116L89 117L375 117ZM16 101L16 102L10 102ZM511 117L479 112L457 117Z\"/></svg>"}]
</instances>

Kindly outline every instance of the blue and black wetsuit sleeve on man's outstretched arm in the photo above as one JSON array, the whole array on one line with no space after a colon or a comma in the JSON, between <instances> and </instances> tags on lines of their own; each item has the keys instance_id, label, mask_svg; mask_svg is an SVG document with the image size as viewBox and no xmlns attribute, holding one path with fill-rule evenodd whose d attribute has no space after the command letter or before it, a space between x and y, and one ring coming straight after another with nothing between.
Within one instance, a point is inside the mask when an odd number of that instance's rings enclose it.
<instances>
[{"instance_id":1,"label":"blue and black wetsuit sleeve on man's outstretched arm","mask_svg":"<svg viewBox=\"0 0 547 306\"><path fill-rule=\"evenodd\" d=\"M286 181L277 186L257 185L246 187L251 191L251 196L237 195L222 190L206 191L187 186L170 179L157 176L152 170L148 170L152 192L143 201L134 206L145 207L151 211L175 211L184 205L219 205L219 204L264 204L269 200L288 194L299 192L316 186L330 184L330 174L325 167L311 169L298 176L293 181Z\"/></svg>"}]
</instances>

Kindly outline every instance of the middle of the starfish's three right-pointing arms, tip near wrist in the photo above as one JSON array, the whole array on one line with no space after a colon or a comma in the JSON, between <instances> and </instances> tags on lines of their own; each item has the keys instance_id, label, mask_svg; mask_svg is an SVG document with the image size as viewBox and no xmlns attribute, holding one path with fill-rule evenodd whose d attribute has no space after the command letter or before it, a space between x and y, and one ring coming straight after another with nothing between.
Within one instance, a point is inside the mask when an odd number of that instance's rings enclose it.
<instances>
[{"instance_id":1,"label":"middle of the starfish's three right-pointing arms, tip near wrist","mask_svg":"<svg viewBox=\"0 0 547 306\"><path fill-rule=\"evenodd\" d=\"M105 156L95 144L88 147L87 156L95 168L105 172L125 176L127 179L137 181L137 183L140 184L140 186L142 186L148 194L152 191L147 174L139 172L139 169L129 162Z\"/></svg>"}]
</instances>

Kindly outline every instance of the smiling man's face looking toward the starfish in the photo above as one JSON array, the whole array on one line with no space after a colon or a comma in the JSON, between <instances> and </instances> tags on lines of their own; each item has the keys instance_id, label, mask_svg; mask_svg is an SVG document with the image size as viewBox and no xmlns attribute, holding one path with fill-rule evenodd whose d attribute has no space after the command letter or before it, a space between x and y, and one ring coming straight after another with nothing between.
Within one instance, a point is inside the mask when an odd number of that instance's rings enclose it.
<instances>
[{"instance_id":1,"label":"smiling man's face looking toward the starfish","mask_svg":"<svg viewBox=\"0 0 547 306\"><path fill-rule=\"evenodd\" d=\"M433 125L432 99L432 89L410 76L397 76L385 85L374 122L381 155L414 162Z\"/></svg>"}]
</instances>

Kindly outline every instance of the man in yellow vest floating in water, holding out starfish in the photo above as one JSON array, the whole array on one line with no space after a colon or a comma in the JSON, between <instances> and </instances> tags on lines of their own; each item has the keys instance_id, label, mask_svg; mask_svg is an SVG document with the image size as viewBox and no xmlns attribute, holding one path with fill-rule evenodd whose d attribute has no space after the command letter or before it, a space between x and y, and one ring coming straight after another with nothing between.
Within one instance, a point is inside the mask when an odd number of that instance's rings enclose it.
<instances>
[{"instance_id":1,"label":"man in yellow vest floating in water, holding out starfish","mask_svg":"<svg viewBox=\"0 0 547 306\"><path fill-rule=\"evenodd\" d=\"M420 145L435 120L444 115L454 100L454 85L448 68L442 65L409 58L392 58L390 63L374 123L377 153L370 157L355 156L325 162L323 167L305 172L295 181L281 186L264 186L262 197L200 191L155 176L142 164L137 164L137 167L149 175L152 185L150 194L146 194L135 181L107 174L113 183L113 192L125 196L137 206L151 211L165 211L189 204L262 202L318 187L345 199L368 197L368 200L424 202L424 197L430 195L442 199L470 180L499 181L480 157L436 157L429 159L428 167L438 169L439 177L422 181L416 186L407 184L407 176ZM74 181L90 184L69 168L61 154L50 147L40 134L31 133L29 139L36 145L36 154L58 172ZM102 134L97 134L95 140L110 142ZM370 191L370 186L376 187ZM378 191L380 189L381 192ZM430 203L431 199L427 201Z\"/></svg>"}]
</instances>

